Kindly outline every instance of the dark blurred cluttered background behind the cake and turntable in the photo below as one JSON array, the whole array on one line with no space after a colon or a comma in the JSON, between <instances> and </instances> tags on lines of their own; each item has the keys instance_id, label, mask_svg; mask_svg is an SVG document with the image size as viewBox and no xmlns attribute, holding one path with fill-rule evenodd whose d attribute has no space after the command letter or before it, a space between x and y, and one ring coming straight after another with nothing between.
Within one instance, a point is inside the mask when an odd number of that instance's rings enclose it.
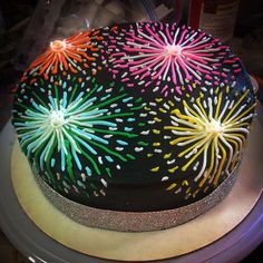
<instances>
[{"instance_id":1,"label":"dark blurred cluttered background behind the cake and turntable","mask_svg":"<svg viewBox=\"0 0 263 263\"><path fill-rule=\"evenodd\" d=\"M259 82L263 101L262 0L1 0L0 133L22 71L53 39L132 21L188 25L231 46ZM1 216L1 214L0 214ZM262 262L257 247L243 262ZM27 262L0 230L0 263Z\"/></svg>"}]
</instances>

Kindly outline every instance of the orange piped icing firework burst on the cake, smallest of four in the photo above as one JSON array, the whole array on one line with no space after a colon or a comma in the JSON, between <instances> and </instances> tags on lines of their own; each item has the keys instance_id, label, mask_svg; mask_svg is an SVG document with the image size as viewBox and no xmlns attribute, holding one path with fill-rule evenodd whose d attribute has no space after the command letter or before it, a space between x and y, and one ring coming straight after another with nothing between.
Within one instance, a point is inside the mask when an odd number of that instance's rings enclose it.
<instances>
[{"instance_id":1,"label":"orange piped icing firework burst on the cake, smallest of four","mask_svg":"<svg viewBox=\"0 0 263 263\"><path fill-rule=\"evenodd\" d=\"M97 31L79 32L62 40L51 41L47 51L40 55L26 72L43 75L48 79L58 71L77 74L82 68L89 68L91 62L96 61L98 51L98 47L91 43L91 38L103 39L97 33Z\"/></svg>"}]
</instances>

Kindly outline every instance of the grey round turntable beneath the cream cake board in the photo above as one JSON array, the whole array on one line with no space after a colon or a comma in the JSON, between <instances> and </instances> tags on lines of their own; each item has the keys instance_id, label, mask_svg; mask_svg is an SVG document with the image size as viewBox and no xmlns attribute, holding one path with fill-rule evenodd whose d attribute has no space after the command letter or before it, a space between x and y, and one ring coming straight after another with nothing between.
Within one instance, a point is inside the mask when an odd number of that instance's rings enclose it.
<instances>
[{"instance_id":1,"label":"grey round turntable beneath the cream cake board","mask_svg":"<svg viewBox=\"0 0 263 263\"><path fill-rule=\"evenodd\" d=\"M0 134L0 149L1 153L4 153L1 154L0 158L0 226L9 240L19 251L28 256L31 262L105 262L105 260L85 255L55 241L33 224L23 212L16 196L10 176L10 156L13 137L13 129L9 123ZM262 142L262 135L259 142ZM259 144L254 145L257 146ZM259 163L259 166L262 165L262 163ZM253 166L246 168L247 174L254 172ZM257 182L257 185L259 183L262 186L262 179ZM240 184L238 179L236 184ZM244 188L249 188L249 192L253 191L253 187L255 187L254 184L244 186ZM247 195L249 194L250 193L247 193ZM169 260L163 260L163 262L238 262L262 242L262 211L263 196L260 195L259 201L251 213L246 215L240 225L222 238L198 251ZM92 241L87 237L87 242Z\"/></svg>"}]
</instances>

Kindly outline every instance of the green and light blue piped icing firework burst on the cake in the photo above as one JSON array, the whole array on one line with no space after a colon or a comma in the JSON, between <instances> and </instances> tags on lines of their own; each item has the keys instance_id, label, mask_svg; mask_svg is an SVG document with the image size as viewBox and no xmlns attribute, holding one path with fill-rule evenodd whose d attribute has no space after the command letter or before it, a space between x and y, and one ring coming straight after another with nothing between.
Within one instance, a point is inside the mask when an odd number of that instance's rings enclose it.
<instances>
[{"instance_id":1,"label":"green and light blue piped icing firework burst on the cake","mask_svg":"<svg viewBox=\"0 0 263 263\"><path fill-rule=\"evenodd\" d=\"M39 87L42 96L22 85L13 124L35 171L52 187L105 195L107 178L147 145L136 140L135 130L144 126L138 119L144 104L114 82L74 84Z\"/></svg>"}]
</instances>

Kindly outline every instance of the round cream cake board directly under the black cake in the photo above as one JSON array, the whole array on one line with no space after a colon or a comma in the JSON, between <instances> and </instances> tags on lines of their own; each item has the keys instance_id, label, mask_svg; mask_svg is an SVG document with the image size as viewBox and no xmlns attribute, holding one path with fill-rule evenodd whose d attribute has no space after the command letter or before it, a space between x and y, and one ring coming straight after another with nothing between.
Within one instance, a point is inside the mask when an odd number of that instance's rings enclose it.
<instances>
[{"instance_id":1,"label":"round cream cake board directly under the black cake","mask_svg":"<svg viewBox=\"0 0 263 263\"><path fill-rule=\"evenodd\" d=\"M45 197L17 140L12 150L11 176L14 192L27 215L47 235L65 246L108 260L162 260L210 245L246 217L263 187L262 142L263 128L255 120L237 181L227 197L186 224L156 232L114 232L74 222Z\"/></svg>"}]
</instances>

